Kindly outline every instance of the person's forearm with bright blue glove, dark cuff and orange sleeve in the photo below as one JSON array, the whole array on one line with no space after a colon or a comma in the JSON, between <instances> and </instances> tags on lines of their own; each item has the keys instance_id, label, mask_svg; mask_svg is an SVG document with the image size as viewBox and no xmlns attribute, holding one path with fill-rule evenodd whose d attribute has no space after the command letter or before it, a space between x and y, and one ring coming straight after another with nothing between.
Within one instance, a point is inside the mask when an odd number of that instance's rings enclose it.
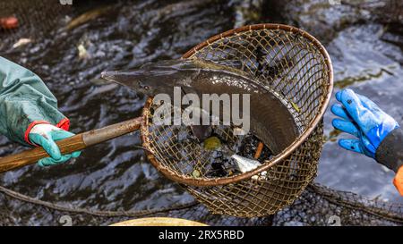
<instances>
[{"instance_id":1,"label":"person's forearm with bright blue glove, dark cuff and orange sleeve","mask_svg":"<svg viewBox=\"0 0 403 244\"><path fill-rule=\"evenodd\" d=\"M339 146L373 157L397 172L393 183L403 196L403 131L398 122L351 89L340 90L336 99L341 104L332 105L331 112L340 118L333 120L333 126L357 138L340 139Z\"/></svg>"}]
</instances>

